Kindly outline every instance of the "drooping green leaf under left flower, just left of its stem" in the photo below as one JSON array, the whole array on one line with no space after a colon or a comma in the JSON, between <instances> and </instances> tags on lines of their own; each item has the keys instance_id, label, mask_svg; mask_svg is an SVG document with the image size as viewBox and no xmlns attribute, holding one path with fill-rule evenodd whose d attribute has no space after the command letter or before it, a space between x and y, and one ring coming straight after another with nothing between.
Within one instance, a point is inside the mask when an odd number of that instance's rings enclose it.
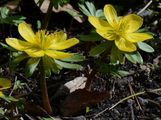
<instances>
[{"instance_id":1,"label":"drooping green leaf under left flower, just left of its stem","mask_svg":"<svg viewBox=\"0 0 161 120\"><path fill-rule=\"evenodd\" d=\"M40 58L30 58L25 67L25 75L30 77L40 62Z\"/></svg>"}]
</instances>

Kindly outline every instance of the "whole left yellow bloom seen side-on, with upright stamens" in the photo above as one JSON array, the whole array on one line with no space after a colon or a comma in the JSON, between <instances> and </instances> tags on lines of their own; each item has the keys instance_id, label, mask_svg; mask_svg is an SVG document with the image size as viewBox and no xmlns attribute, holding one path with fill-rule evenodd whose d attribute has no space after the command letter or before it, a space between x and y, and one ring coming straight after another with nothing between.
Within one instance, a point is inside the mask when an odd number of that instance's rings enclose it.
<instances>
[{"instance_id":1,"label":"whole left yellow bloom seen side-on, with upright stamens","mask_svg":"<svg viewBox=\"0 0 161 120\"><path fill-rule=\"evenodd\" d=\"M26 41L7 38L6 42L14 49L27 53L30 57L40 58L48 56L53 59L70 58L72 56L71 53L65 53L61 50L79 43L79 40L76 38L67 40L67 35L62 31L49 34L45 30L39 30L34 34L31 27L25 22L19 24L18 31Z\"/></svg>"}]
</instances>

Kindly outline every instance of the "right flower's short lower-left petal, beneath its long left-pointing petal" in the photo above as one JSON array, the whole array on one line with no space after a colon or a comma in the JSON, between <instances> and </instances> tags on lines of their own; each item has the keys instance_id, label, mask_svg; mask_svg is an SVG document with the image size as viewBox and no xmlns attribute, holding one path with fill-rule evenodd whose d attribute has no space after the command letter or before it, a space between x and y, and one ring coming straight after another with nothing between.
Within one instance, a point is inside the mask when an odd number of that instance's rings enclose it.
<instances>
[{"instance_id":1,"label":"right flower's short lower-left petal, beneath its long left-pointing petal","mask_svg":"<svg viewBox=\"0 0 161 120\"><path fill-rule=\"evenodd\" d=\"M107 31L107 30L96 29L96 32L107 40L115 40L117 37L116 34L112 30Z\"/></svg>"}]
</instances>

